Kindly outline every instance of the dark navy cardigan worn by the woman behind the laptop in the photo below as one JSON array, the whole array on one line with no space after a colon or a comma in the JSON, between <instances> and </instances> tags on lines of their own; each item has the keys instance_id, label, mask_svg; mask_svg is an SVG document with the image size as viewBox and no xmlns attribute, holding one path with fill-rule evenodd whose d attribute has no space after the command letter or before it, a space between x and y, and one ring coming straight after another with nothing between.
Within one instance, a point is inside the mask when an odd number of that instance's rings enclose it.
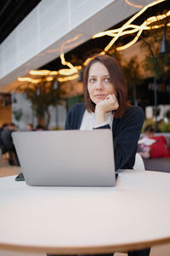
<instances>
[{"instance_id":1,"label":"dark navy cardigan worn by the woman behind the laptop","mask_svg":"<svg viewBox=\"0 0 170 256\"><path fill-rule=\"evenodd\" d=\"M84 111L84 103L75 104L67 114L65 130L79 130ZM144 111L139 107L129 107L122 119L113 119L112 132L116 170L133 169L143 123ZM101 128L111 129L111 126L104 125L98 129Z\"/></svg>"}]
</instances>

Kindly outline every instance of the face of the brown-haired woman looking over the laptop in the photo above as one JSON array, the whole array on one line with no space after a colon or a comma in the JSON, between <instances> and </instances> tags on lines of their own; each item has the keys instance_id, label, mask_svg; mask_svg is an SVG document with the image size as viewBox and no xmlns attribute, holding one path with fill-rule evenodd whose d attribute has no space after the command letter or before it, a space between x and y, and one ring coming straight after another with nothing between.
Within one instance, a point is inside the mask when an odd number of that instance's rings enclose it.
<instances>
[{"instance_id":1,"label":"face of the brown-haired woman looking over the laptop","mask_svg":"<svg viewBox=\"0 0 170 256\"><path fill-rule=\"evenodd\" d=\"M116 90L111 84L110 74L101 62L95 62L88 72L88 93L95 104L105 100L105 97L114 94Z\"/></svg>"}]
</instances>

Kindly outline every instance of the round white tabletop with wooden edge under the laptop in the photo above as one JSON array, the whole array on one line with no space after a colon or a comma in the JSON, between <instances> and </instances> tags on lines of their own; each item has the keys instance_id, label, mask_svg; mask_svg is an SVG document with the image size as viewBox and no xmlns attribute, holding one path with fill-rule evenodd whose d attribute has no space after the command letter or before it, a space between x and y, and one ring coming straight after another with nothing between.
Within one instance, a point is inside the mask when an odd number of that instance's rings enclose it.
<instances>
[{"instance_id":1,"label":"round white tabletop with wooden edge under the laptop","mask_svg":"<svg viewBox=\"0 0 170 256\"><path fill-rule=\"evenodd\" d=\"M0 178L0 248L113 253L170 241L170 174L119 174L114 188L31 187Z\"/></svg>"}]
</instances>

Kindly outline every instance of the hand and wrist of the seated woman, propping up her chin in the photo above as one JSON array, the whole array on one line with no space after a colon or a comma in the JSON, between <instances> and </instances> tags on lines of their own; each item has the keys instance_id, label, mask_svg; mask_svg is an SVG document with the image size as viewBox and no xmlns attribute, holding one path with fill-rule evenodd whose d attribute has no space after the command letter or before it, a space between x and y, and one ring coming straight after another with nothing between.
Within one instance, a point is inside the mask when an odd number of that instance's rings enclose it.
<instances>
[{"instance_id":1,"label":"hand and wrist of the seated woman, propping up her chin","mask_svg":"<svg viewBox=\"0 0 170 256\"><path fill-rule=\"evenodd\" d=\"M105 113L119 108L119 103L114 94L105 97L104 101L96 104L95 107L95 125L100 125L105 122Z\"/></svg>"}]
</instances>

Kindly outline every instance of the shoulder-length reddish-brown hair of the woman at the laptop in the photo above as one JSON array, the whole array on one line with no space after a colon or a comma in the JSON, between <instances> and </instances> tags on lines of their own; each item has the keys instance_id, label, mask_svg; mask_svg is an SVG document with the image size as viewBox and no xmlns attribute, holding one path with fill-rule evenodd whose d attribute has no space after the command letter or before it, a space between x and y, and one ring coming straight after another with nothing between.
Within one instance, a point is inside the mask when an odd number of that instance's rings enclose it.
<instances>
[{"instance_id":1,"label":"shoulder-length reddish-brown hair of the woman at the laptop","mask_svg":"<svg viewBox=\"0 0 170 256\"><path fill-rule=\"evenodd\" d=\"M90 67L95 62L101 62L108 70L111 77L111 84L115 87L116 96L119 103L119 108L115 111L115 117L117 119L122 118L126 109L130 106L127 102L127 83L122 71L120 64L109 55L95 55L94 58L89 61L88 66L84 70L83 75L83 90L84 90L84 100L86 109L88 112L94 112L95 103L91 101L88 93L88 73Z\"/></svg>"}]
</instances>

